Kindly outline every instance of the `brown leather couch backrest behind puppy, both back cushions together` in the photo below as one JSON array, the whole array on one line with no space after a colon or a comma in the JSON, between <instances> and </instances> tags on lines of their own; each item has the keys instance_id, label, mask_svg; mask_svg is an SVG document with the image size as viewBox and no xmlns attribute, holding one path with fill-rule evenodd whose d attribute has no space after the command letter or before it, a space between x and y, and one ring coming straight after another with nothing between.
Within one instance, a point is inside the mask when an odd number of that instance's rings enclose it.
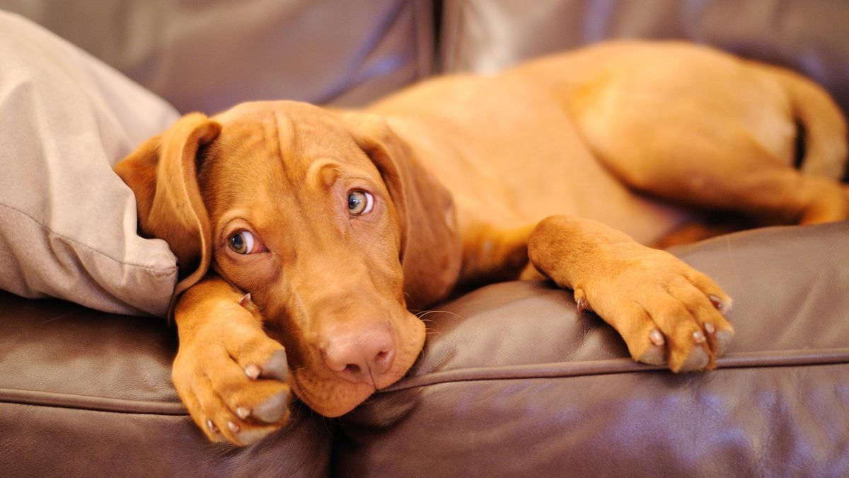
<instances>
[{"instance_id":1,"label":"brown leather couch backrest behind puppy, both back cushions together","mask_svg":"<svg viewBox=\"0 0 849 478\"><path fill-rule=\"evenodd\" d=\"M849 3L838 0L0 0L0 9L183 112L279 98L363 105L435 70L494 71L623 37L689 39L790 66L849 111Z\"/></svg>"}]
</instances>

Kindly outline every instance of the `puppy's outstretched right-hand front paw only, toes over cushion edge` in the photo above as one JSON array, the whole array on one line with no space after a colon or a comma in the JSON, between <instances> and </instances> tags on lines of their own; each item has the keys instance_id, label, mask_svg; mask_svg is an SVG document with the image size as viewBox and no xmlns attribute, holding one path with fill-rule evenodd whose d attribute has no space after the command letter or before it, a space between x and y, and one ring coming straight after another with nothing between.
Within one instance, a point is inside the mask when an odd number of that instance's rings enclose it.
<instances>
[{"instance_id":1,"label":"puppy's outstretched right-hand front paw only, toes over cushion edge","mask_svg":"<svg viewBox=\"0 0 849 478\"><path fill-rule=\"evenodd\" d=\"M664 251L628 245L576 287L579 310L592 307L616 328L634 360L673 372L710 370L728 348L731 298L709 277Z\"/></svg>"}]
</instances>

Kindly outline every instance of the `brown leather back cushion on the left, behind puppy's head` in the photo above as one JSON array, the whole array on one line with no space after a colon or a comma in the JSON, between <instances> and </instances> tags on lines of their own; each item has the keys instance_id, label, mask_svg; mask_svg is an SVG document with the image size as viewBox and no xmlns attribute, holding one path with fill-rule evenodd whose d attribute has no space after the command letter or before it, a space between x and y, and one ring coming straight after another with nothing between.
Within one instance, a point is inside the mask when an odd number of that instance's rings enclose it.
<instances>
[{"instance_id":1,"label":"brown leather back cushion on the left, behind puppy's head","mask_svg":"<svg viewBox=\"0 0 849 478\"><path fill-rule=\"evenodd\" d=\"M430 75L429 0L0 0L160 95L207 114L241 101L363 105Z\"/></svg>"}]
</instances>

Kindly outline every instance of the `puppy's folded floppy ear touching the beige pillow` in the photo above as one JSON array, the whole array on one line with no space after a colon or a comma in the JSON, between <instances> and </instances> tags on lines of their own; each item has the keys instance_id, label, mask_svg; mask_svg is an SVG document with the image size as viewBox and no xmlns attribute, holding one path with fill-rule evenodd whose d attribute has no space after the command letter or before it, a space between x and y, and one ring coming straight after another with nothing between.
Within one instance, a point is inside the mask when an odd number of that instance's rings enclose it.
<instances>
[{"instance_id":1,"label":"puppy's folded floppy ear touching the beige pillow","mask_svg":"<svg viewBox=\"0 0 849 478\"><path fill-rule=\"evenodd\" d=\"M180 281L173 299L209 270L211 231L200 196L197 162L199 149L220 132L220 124L192 113L115 165L115 173L136 195L143 235L164 239L177 256Z\"/></svg>"}]
</instances>

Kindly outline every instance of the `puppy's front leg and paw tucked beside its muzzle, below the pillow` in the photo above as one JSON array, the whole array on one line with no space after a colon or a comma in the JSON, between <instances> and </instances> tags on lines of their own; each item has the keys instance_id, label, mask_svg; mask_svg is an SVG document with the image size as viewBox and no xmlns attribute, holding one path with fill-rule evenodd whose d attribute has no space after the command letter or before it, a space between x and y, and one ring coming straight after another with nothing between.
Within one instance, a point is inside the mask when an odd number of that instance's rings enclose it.
<instances>
[{"instance_id":1,"label":"puppy's front leg and paw tucked beside its muzzle, below the pillow","mask_svg":"<svg viewBox=\"0 0 849 478\"><path fill-rule=\"evenodd\" d=\"M283 345L268 338L250 296L216 276L190 287L175 310L180 347L171 377L212 441L249 445L289 418Z\"/></svg>"}]
</instances>

